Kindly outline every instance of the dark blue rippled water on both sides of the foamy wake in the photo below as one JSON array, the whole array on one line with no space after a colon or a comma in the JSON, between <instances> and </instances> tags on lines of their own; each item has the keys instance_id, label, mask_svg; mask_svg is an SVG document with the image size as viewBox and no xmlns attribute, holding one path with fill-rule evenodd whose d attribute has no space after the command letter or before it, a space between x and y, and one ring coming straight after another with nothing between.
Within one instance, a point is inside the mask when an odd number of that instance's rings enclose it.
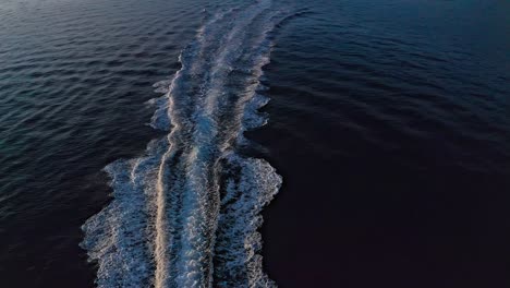
<instances>
[{"instance_id":1,"label":"dark blue rippled water on both sides of the foamy wake","mask_svg":"<svg viewBox=\"0 0 510 288\"><path fill-rule=\"evenodd\" d=\"M147 124L153 84L251 1L220 2L0 2L0 287L94 286L78 244L111 201L102 169L167 134ZM246 133L283 179L269 277L509 287L510 2L272 2L299 13L271 31L269 121Z\"/></svg>"}]
</instances>

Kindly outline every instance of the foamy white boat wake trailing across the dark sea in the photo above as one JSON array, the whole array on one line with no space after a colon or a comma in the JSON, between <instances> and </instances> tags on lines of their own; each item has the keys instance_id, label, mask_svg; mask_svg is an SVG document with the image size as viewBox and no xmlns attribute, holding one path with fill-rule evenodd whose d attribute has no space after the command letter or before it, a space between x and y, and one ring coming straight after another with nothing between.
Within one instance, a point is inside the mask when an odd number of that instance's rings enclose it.
<instances>
[{"instance_id":1,"label":"foamy white boat wake trailing across the dark sea","mask_svg":"<svg viewBox=\"0 0 510 288\"><path fill-rule=\"evenodd\" d=\"M295 15L268 0L223 10L181 53L151 124L169 134L145 155L106 167L113 201L83 226L99 287L275 287L262 269L262 208L281 184L243 156L257 111L270 34Z\"/></svg>"}]
</instances>

